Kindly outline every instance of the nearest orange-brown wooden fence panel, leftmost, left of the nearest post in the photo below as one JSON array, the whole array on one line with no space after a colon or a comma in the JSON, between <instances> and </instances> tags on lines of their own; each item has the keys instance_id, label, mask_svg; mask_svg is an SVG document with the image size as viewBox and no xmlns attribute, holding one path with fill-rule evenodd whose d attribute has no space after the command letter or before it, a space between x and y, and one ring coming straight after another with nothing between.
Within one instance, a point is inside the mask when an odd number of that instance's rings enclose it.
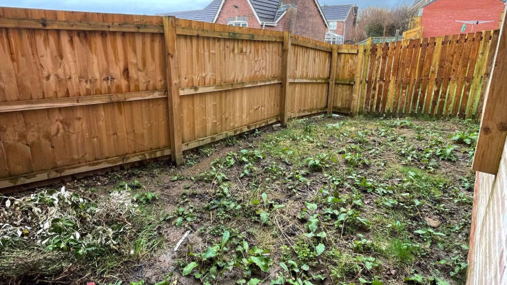
<instances>
[{"instance_id":1,"label":"nearest orange-brown wooden fence panel, leftmost, left of the nearest post","mask_svg":"<svg viewBox=\"0 0 507 285\"><path fill-rule=\"evenodd\" d=\"M0 17L0 187L169 154L161 17Z\"/></svg>"}]
</instances>

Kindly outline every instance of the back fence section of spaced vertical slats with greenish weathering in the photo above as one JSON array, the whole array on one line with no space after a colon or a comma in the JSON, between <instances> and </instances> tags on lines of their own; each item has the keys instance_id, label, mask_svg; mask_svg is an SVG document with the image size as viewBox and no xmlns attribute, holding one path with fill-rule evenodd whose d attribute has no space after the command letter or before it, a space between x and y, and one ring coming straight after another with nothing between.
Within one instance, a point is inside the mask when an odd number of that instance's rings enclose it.
<instances>
[{"instance_id":1,"label":"back fence section of spaced vertical slats with greenish weathering","mask_svg":"<svg viewBox=\"0 0 507 285\"><path fill-rule=\"evenodd\" d=\"M477 117L499 30L366 46L359 113Z\"/></svg>"}]
</instances>

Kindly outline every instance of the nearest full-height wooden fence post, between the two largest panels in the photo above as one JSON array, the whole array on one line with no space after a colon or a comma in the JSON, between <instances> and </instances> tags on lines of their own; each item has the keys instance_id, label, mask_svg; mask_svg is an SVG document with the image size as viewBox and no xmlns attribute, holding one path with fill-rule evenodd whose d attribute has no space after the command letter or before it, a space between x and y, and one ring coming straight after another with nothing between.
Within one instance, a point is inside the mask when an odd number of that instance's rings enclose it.
<instances>
[{"instance_id":1,"label":"nearest full-height wooden fence post, between the two largest panels","mask_svg":"<svg viewBox=\"0 0 507 285\"><path fill-rule=\"evenodd\" d=\"M168 136L171 161L176 165L183 162L180 117L180 74L176 54L176 18L164 17L165 72L167 78Z\"/></svg>"}]
</instances>

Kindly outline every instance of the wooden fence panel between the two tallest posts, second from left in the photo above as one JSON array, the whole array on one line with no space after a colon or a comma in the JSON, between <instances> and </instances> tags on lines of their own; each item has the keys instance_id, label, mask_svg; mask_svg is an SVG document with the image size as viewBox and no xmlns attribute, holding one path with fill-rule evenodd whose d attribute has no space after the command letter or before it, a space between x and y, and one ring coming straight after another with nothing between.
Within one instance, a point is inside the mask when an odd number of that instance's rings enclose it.
<instances>
[{"instance_id":1,"label":"wooden fence panel between the two tallest posts, second from left","mask_svg":"<svg viewBox=\"0 0 507 285\"><path fill-rule=\"evenodd\" d=\"M282 32L178 20L177 34L183 149L278 120Z\"/></svg>"}]
</instances>

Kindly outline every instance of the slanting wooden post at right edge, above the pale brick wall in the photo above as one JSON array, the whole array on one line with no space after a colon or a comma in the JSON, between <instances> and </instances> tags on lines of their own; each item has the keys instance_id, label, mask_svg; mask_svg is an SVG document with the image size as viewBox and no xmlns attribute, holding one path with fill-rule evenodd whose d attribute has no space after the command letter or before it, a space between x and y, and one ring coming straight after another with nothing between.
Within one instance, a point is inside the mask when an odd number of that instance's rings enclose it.
<instances>
[{"instance_id":1,"label":"slanting wooden post at right edge, above the pale brick wall","mask_svg":"<svg viewBox=\"0 0 507 285\"><path fill-rule=\"evenodd\" d=\"M507 9L507 8L506 8ZM473 170L497 175L507 136L507 28L506 13L498 39L495 64L484 98L481 129L475 148Z\"/></svg>"}]
</instances>

